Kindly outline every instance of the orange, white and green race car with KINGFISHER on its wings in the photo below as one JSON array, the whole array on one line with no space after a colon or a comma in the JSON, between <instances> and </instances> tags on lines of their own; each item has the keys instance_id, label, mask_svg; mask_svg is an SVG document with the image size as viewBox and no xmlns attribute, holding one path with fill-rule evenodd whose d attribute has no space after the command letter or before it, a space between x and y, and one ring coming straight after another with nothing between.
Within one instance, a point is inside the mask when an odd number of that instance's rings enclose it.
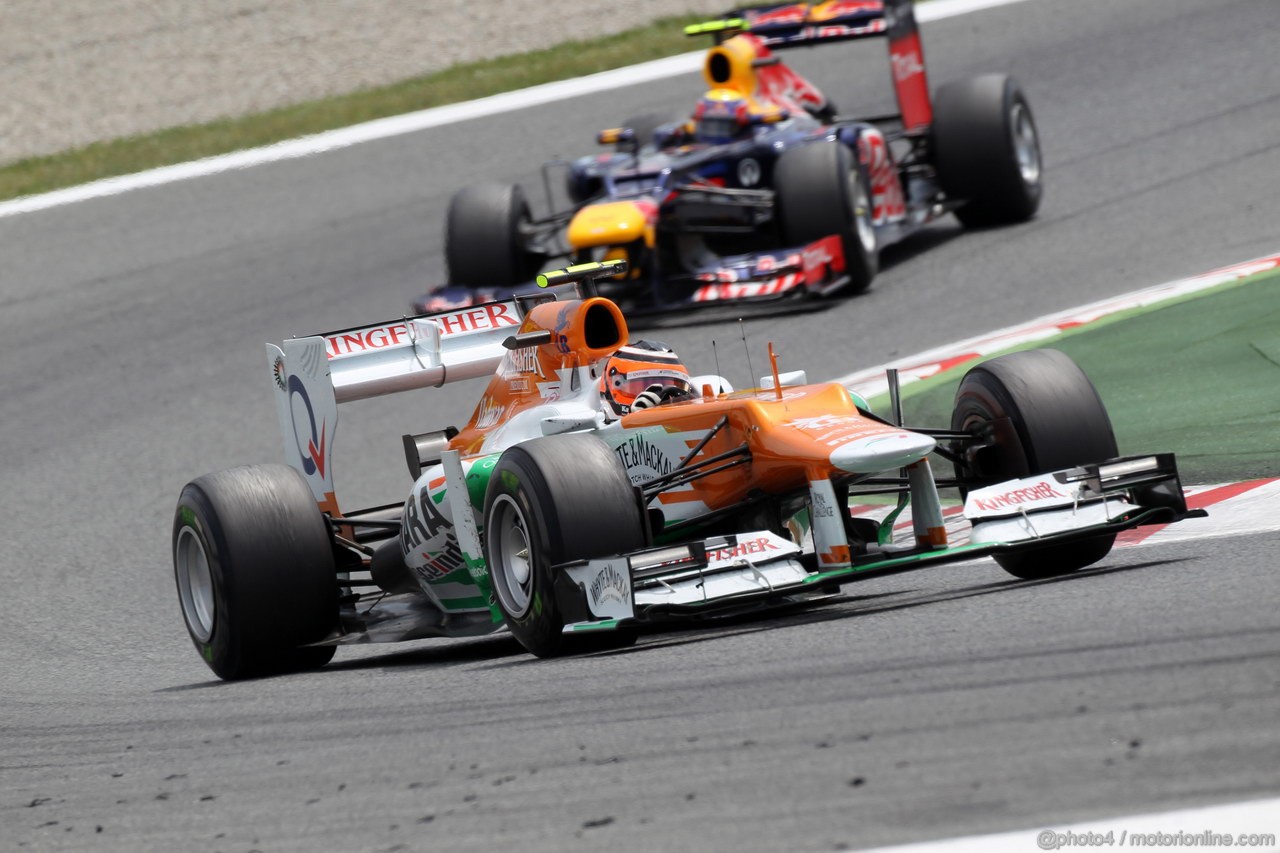
<instances>
[{"instance_id":1,"label":"orange, white and green race car with KINGFISHER on its wings","mask_svg":"<svg viewBox=\"0 0 1280 853\"><path fill-rule=\"evenodd\" d=\"M268 345L289 465L206 474L173 525L192 640L224 679L321 666L343 643L509 630L554 656L635 640L663 619L829 597L850 581L992 556L1018 578L1105 557L1120 530L1188 511L1172 455L1117 457L1088 378L1030 350L980 364L951 424L900 425L801 371L621 418L600 368L627 343L593 279L549 273L507 302ZM406 435L412 488L339 503L338 405L486 379L470 420ZM938 478L931 456L955 475ZM966 543L940 488L957 488ZM911 520L854 517L850 497L896 494Z\"/></svg>"}]
</instances>

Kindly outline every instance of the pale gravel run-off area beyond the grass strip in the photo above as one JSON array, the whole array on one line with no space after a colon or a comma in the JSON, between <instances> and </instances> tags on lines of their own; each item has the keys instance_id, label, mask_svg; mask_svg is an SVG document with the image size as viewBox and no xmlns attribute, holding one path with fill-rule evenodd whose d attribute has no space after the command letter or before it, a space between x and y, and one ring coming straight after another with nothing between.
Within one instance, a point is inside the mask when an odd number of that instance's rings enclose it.
<instances>
[{"instance_id":1,"label":"pale gravel run-off area beyond the grass strip","mask_svg":"<svg viewBox=\"0 0 1280 853\"><path fill-rule=\"evenodd\" d=\"M3 0L0 164L609 35L723 0ZM691 47L692 49L692 47Z\"/></svg>"}]
</instances>

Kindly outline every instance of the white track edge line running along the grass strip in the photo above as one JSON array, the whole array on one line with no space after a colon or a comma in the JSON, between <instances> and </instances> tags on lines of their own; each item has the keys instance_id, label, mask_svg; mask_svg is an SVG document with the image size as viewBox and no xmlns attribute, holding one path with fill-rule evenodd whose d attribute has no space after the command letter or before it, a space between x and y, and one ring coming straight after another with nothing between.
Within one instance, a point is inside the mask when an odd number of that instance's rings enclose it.
<instances>
[{"instance_id":1,"label":"white track edge line running along the grass strip","mask_svg":"<svg viewBox=\"0 0 1280 853\"><path fill-rule=\"evenodd\" d=\"M943 18L954 18L972 12L992 9L995 6L1007 6L1015 3L1025 3L1025 0L931 0L916 9L915 17L920 23L928 23L931 20L942 20ZM548 104L550 101L577 97L580 95L604 92L622 86L648 83L655 79L664 79L667 77L695 72L701 68L701 63L703 51L694 51L681 54L678 56L669 56L667 59L657 59L640 65L631 65L630 68L600 72L599 74L591 74L589 77L579 77L576 79L545 83L543 86L532 86L515 92L493 95L492 97L483 97L465 104L451 104L448 106L438 106L429 110L420 110L417 113L406 113L404 115L394 115L374 122L365 122L364 124L355 124L338 131L303 136L261 149L250 149L246 151L237 151L234 154L205 158L204 160L195 160L192 163L179 163L177 165L164 167L160 169L138 172L136 174L105 178L102 181L95 181L78 187L68 187L67 190L56 190L54 192L46 192L37 196L23 196L22 199L14 199L13 201L0 202L0 218L15 216L18 214L33 213L37 210L47 210L50 207L70 205L79 201L87 201L90 199L115 196L123 192L132 192L133 190L142 190L143 187L157 187L178 181L189 181L192 178L219 174L221 172L247 169L265 163L294 160L315 154L323 154L325 151L351 147L353 145L360 145L361 142L385 140L394 136L402 136L404 133L416 133L417 131L440 127L443 124L454 124L457 122L466 122L467 119L526 109L530 106Z\"/></svg>"}]
</instances>

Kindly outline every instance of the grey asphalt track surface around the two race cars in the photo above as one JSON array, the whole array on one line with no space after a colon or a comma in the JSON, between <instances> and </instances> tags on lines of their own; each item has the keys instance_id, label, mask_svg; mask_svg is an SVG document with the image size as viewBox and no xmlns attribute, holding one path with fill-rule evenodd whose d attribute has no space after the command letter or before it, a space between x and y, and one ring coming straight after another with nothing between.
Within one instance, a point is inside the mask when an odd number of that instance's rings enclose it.
<instances>
[{"instance_id":1,"label":"grey asphalt track surface around the two race cars","mask_svg":"<svg viewBox=\"0 0 1280 853\"><path fill-rule=\"evenodd\" d=\"M1021 81L1039 218L940 224L868 295L748 320L756 369L765 341L840 375L1274 251L1277 23L1271 0L1079 0L929 24L934 85ZM877 46L796 64L845 111L890 106ZM614 654L424 642L211 680L172 512L189 478L279 457L262 342L401 314L443 273L454 188L535 184L594 128L698 88L0 220L0 848L829 850L1280 790L1275 534L1117 549L1050 583L989 561L899 575ZM746 380L736 323L662 336L699 369L716 339ZM399 434L460 423L472 394L347 407L339 494L398 498Z\"/></svg>"}]
</instances>

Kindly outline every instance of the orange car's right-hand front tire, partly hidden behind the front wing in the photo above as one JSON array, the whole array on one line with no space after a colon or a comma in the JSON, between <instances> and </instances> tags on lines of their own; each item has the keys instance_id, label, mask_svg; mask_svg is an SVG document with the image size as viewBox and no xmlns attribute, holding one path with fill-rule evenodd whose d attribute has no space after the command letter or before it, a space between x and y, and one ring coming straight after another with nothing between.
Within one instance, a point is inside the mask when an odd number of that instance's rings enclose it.
<instances>
[{"instance_id":1,"label":"orange car's right-hand front tire, partly hidden behind the front wing","mask_svg":"<svg viewBox=\"0 0 1280 853\"><path fill-rule=\"evenodd\" d=\"M956 389L951 429L987 441L956 447L956 478L1000 482L1119 456L1097 389L1057 350L1012 352L969 370ZM1052 578L1107 556L1115 535L1052 548L996 555L1015 578Z\"/></svg>"}]
</instances>

